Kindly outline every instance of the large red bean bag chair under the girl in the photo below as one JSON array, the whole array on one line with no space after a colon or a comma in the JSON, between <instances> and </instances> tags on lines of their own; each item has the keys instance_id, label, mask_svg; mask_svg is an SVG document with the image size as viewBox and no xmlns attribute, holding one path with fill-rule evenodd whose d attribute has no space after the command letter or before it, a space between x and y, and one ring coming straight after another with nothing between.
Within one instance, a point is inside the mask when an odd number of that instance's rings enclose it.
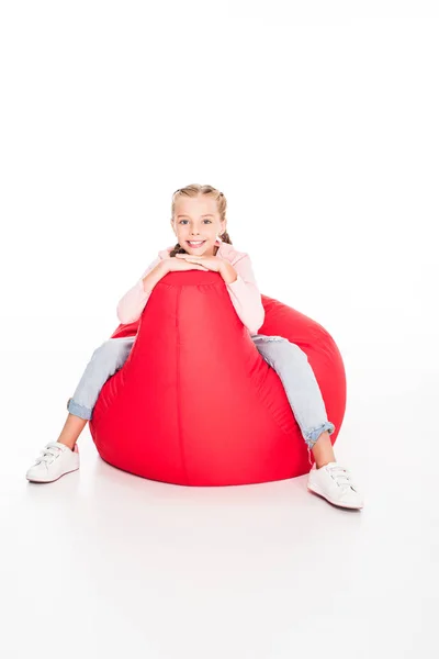
<instances>
[{"instance_id":1,"label":"large red bean bag chair under the girl","mask_svg":"<svg viewBox=\"0 0 439 659\"><path fill-rule=\"evenodd\" d=\"M346 409L334 339L294 309L266 295L262 303L259 334L284 336L306 353L336 426L334 444ZM120 325L112 338L136 334L89 422L103 460L181 485L261 483L309 471L281 380L259 355L217 272L166 275L140 319Z\"/></svg>"}]
</instances>

